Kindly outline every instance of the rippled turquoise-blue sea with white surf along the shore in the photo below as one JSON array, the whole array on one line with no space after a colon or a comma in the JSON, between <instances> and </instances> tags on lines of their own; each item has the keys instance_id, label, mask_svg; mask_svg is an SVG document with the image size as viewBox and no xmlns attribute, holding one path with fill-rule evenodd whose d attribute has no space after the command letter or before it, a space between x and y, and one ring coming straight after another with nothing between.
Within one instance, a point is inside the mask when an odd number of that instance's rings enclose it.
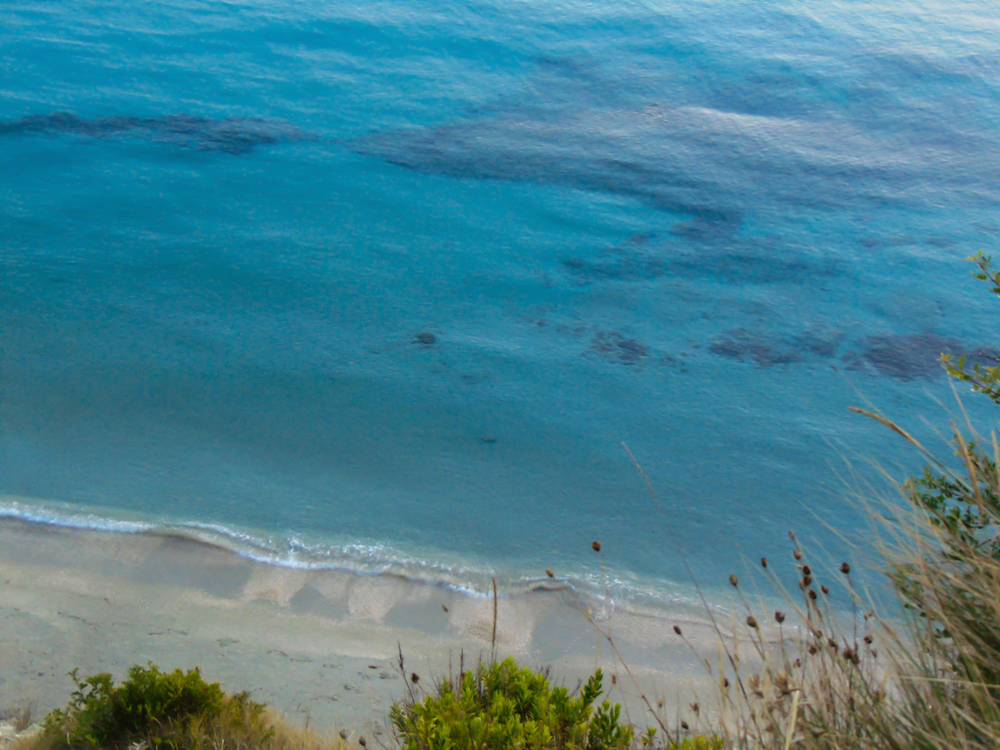
<instances>
[{"instance_id":1,"label":"rippled turquoise-blue sea with white surf along the shore","mask_svg":"<svg viewBox=\"0 0 1000 750\"><path fill-rule=\"evenodd\" d=\"M921 460L847 407L946 454L995 343L998 19L0 1L0 515L664 607L856 555Z\"/></svg>"}]
</instances>

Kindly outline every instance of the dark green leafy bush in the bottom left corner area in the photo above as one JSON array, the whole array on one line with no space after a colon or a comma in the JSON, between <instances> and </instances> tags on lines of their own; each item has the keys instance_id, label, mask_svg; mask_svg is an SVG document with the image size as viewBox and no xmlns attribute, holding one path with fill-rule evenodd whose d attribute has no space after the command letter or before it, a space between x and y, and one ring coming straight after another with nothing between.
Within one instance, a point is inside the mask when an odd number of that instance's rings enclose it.
<instances>
[{"instance_id":1,"label":"dark green leafy bush in the bottom left corner area","mask_svg":"<svg viewBox=\"0 0 1000 750\"><path fill-rule=\"evenodd\" d=\"M125 747L146 741L153 747L192 747L183 738L196 724L216 719L227 703L240 709L241 721L259 719L263 706L247 694L226 698L218 683L207 683L198 669L161 672L153 664L133 666L128 679L115 685L101 673L80 678L70 672L76 690L69 705L50 713L42 731L56 745L70 747Z\"/></svg>"}]
</instances>

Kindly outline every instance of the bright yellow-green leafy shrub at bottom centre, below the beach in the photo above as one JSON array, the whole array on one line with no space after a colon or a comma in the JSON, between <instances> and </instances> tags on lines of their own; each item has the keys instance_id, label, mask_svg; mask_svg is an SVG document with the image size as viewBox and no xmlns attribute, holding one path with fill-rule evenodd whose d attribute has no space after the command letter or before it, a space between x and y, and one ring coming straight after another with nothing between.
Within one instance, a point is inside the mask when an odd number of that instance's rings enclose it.
<instances>
[{"instance_id":1,"label":"bright yellow-green leafy shrub at bottom centre, below the beach","mask_svg":"<svg viewBox=\"0 0 1000 750\"><path fill-rule=\"evenodd\" d=\"M601 670L574 697L508 658L446 679L422 701L396 703L390 716L404 750L627 748L633 728L620 722L621 706L594 708L602 692Z\"/></svg>"}]
</instances>

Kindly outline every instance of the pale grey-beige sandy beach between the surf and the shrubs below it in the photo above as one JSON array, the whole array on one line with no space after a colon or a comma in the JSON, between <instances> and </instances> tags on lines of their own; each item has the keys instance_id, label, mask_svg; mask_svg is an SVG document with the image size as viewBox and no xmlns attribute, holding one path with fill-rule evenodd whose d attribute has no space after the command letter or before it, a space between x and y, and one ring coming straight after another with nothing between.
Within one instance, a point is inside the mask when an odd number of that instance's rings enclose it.
<instances>
[{"instance_id":1,"label":"pale grey-beige sandy beach between the surf and the shrubs below it","mask_svg":"<svg viewBox=\"0 0 1000 750\"><path fill-rule=\"evenodd\" d=\"M377 733L404 692L398 650L422 684L457 667L463 652L466 664L488 657L492 607L390 576L258 563L181 536L4 520L0 710L64 705L74 668L117 678L151 661L198 666L303 724ZM674 622L714 660L715 637L697 613ZM661 618L616 614L611 626L643 690L668 711L712 694L704 667ZM571 686L600 665L618 677L612 700L645 723L637 691L600 641L569 592L498 601L498 656L549 666Z\"/></svg>"}]
</instances>

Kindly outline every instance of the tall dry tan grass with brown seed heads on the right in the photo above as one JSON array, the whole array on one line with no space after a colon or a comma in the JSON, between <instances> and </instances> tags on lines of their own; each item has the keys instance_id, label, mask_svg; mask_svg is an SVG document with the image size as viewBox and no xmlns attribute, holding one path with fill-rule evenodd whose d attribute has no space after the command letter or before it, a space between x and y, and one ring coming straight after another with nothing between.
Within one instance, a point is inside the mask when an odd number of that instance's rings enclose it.
<instances>
[{"instance_id":1,"label":"tall dry tan grass with brown seed heads on the right","mask_svg":"<svg viewBox=\"0 0 1000 750\"><path fill-rule=\"evenodd\" d=\"M849 564L816 565L790 533L796 591L761 560L781 611L764 611L731 576L745 612L726 637L706 604L718 657L713 667L697 656L718 686L705 700L717 708L711 718L694 702L668 726L662 704L641 695L667 737L718 735L726 748L761 750L1000 747L1000 446L995 438L969 443L956 430L961 469L950 471L900 427L865 413L920 449L959 498L930 507L908 482L898 485L908 508L891 504L889 518L890 506L880 508L875 548L902 606L877 612L855 590ZM974 533L956 533L947 520L956 504L971 514ZM831 597L843 601L844 592L853 611L838 616ZM588 619L617 654L610 632Z\"/></svg>"}]
</instances>

